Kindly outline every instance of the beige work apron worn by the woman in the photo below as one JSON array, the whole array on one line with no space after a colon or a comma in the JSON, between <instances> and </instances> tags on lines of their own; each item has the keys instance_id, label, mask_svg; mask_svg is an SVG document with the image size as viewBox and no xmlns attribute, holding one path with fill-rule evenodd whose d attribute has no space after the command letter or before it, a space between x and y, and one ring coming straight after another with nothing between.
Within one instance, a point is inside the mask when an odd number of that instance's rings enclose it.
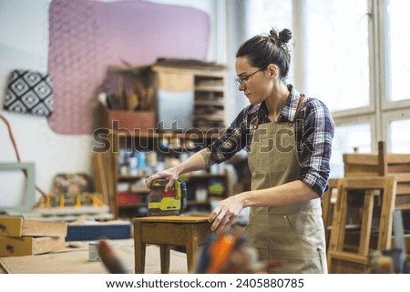
<instances>
[{"instance_id":1,"label":"beige work apron worn by the woman","mask_svg":"<svg viewBox=\"0 0 410 292\"><path fill-rule=\"evenodd\" d=\"M261 124L249 150L251 189L280 186L299 179L300 165L293 126ZM261 259L282 262L270 273L327 273L320 198L278 207L251 207L245 228Z\"/></svg>"}]
</instances>

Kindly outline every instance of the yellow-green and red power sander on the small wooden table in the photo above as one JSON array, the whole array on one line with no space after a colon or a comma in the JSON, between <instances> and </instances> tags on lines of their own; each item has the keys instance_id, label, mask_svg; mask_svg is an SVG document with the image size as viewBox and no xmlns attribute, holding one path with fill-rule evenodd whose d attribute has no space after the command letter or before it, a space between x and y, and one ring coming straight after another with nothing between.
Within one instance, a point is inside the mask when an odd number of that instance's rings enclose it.
<instances>
[{"instance_id":1,"label":"yellow-green and red power sander on the small wooden table","mask_svg":"<svg viewBox=\"0 0 410 292\"><path fill-rule=\"evenodd\" d=\"M152 182L149 191L149 216L180 215L187 208L187 184L176 180L174 187L165 191L168 179Z\"/></svg>"}]
</instances>

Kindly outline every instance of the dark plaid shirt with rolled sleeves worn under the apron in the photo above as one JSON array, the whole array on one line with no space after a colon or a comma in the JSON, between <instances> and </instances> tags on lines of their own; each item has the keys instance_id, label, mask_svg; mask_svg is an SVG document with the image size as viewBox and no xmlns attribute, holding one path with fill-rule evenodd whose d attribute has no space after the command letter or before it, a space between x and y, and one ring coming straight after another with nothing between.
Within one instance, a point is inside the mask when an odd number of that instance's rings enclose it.
<instances>
[{"instance_id":1,"label":"dark plaid shirt with rolled sleeves worn under the apron","mask_svg":"<svg viewBox=\"0 0 410 292\"><path fill-rule=\"evenodd\" d=\"M289 86L288 98L278 117L278 123L294 123L300 180L311 186L319 196L327 189L334 134L333 118L328 108L316 98L304 98L298 113L296 109L303 96ZM249 149L251 137L259 124L269 123L264 102L241 110L226 131L210 146L210 160L220 163L231 158L243 148Z\"/></svg>"}]
</instances>

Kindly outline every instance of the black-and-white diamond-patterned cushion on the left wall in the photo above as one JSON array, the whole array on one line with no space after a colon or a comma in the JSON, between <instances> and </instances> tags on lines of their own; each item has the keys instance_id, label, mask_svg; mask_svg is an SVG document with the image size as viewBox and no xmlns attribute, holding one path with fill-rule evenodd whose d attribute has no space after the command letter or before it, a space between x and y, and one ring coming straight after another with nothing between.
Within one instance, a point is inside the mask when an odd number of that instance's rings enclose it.
<instances>
[{"instance_id":1,"label":"black-and-white diamond-patterned cushion on the left wall","mask_svg":"<svg viewBox=\"0 0 410 292\"><path fill-rule=\"evenodd\" d=\"M53 113L53 84L48 74L14 70L9 78L5 110L35 116Z\"/></svg>"}]
</instances>

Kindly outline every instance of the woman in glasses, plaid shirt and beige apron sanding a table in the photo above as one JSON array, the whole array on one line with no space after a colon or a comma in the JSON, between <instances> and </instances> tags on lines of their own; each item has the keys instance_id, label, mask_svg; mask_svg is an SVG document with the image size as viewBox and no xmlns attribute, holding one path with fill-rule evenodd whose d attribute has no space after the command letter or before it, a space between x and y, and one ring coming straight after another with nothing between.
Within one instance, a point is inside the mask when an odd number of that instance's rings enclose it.
<instances>
[{"instance_id":1,"label":"woman in glasses, plaid shirt and beige apron sanding a table","mask_svg":"<svg viewBox=\"0 0 410 292\"><path fill-rule=\"evenodd\" d=\"M224 232L244 207L251 206L245 233L260 259L282 265L273 273L326 273L321 197L330 173L333 119L318 99L299 94L285 82L291 55L289 29L256 35L239 48L236 81L251 105L220 139L178 166L147 179L203 169L248 150L251 190L220 202L211 229Z\"/></svg>"}]
</instances>

